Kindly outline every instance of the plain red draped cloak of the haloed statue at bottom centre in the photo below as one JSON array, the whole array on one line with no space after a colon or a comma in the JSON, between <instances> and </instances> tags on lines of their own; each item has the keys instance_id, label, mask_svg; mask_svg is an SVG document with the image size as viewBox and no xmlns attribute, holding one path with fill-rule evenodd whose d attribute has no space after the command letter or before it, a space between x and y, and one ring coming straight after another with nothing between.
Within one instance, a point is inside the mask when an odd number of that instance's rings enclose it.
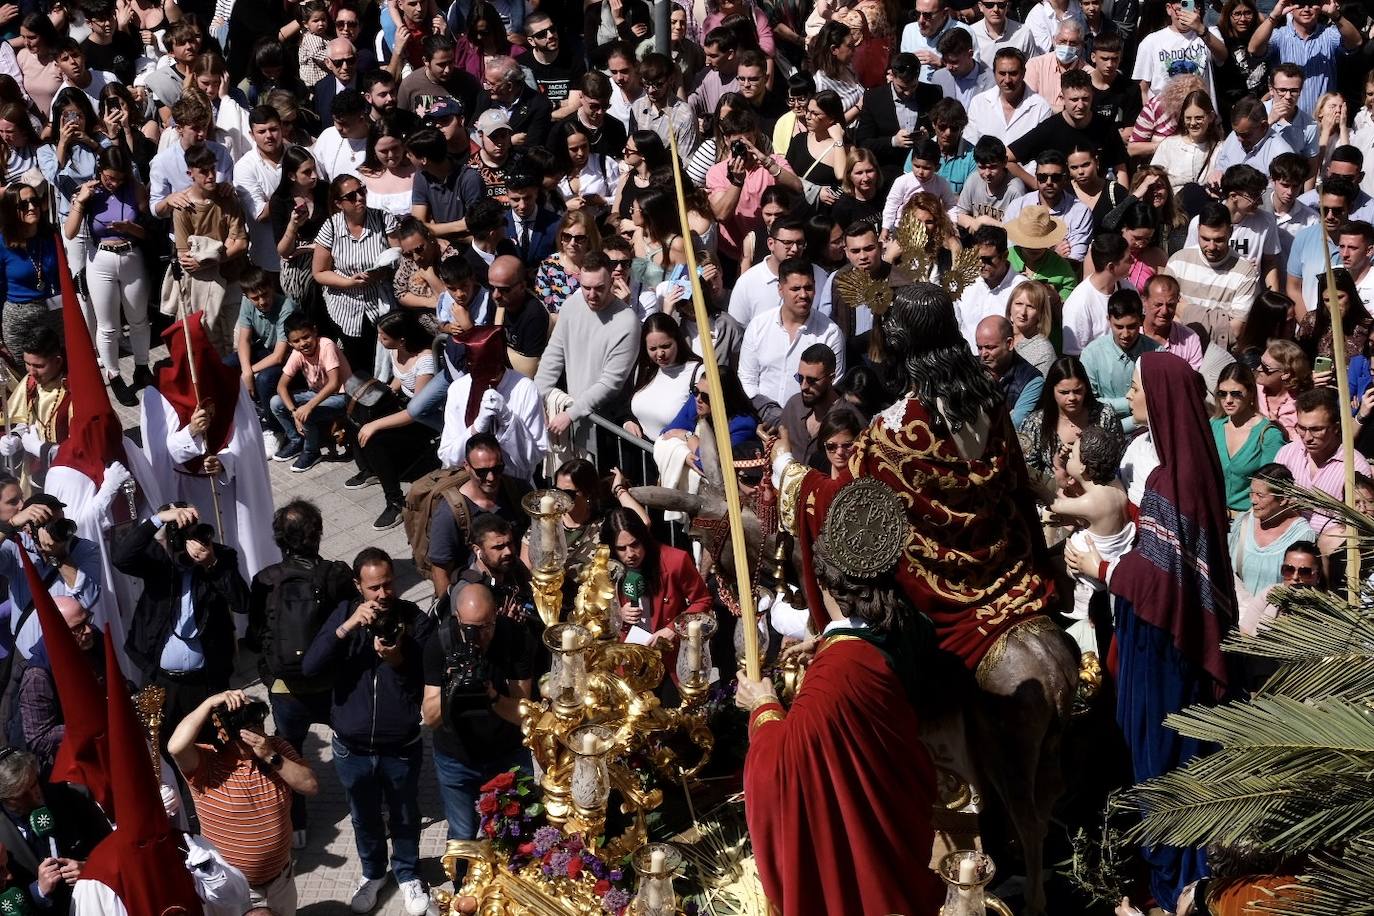
<instances>
[{"instance_id":1,"label":"plain red draped cloak of the haloed statue at bottom centre","mask_svg":"<svg viewBox=\"0 0 1374 916\"><path fill-rule=\"evenodd\" d=\"M934 766L888 656L855 633L823 643L785 718L776 703L750 715L758 875L782 916L934 916Z\"/></svg>"}]
</instances>

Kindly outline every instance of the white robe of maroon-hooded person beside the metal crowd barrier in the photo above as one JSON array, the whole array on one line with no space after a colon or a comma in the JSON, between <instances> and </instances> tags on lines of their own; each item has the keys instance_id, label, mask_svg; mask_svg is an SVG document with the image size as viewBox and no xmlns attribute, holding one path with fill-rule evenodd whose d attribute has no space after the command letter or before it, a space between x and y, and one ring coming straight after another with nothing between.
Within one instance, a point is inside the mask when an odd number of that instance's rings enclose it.
<instances>
[{"instance_id":1,"label":"white robe of maroon-hooded person beside the metal crowd barrier","mask_svg":"<svg viewBox=\"0 0 1374 916\"><path fill-rule=\"evenodd\" d=\"M463 374L448 386L448 401L444 405L444 435L438 442L438 460L444 467L462 467L467 459L467 439L473 430L467 424L467 393L473 389L473 376ZM506 398L511 412L510 423L493 422L491 434L502 444L502 457L506 474L518 479L534 479L534 470L548 452L548 428L544 426L544 401L532 380L506 369L496 390Z\"/></svg>"}]
</instances>

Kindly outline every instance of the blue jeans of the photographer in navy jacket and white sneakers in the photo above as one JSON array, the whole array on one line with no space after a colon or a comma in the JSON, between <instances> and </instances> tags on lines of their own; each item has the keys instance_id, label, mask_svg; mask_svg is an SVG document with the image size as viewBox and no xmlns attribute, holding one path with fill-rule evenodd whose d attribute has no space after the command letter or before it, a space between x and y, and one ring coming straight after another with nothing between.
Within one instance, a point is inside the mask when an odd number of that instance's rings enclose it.
<instances>
[{"instance_id":1,"label":"blue jeans of the photographer in navy jacket and white sneakers","mask_svg":"<svg viewBox=\"0 0 1374 916\"><path fill-rule=\"evenodd\" d=\"M344 783L357 857L368 880L386 878L386 831L392 831L392 871L396 883L419 878L420 861L420 766L425 746L415 742L394 754L360 754L338 737L331 742L334 769ZM382 802L390 818L382 820Z\"/></svg>"}]
</instances>

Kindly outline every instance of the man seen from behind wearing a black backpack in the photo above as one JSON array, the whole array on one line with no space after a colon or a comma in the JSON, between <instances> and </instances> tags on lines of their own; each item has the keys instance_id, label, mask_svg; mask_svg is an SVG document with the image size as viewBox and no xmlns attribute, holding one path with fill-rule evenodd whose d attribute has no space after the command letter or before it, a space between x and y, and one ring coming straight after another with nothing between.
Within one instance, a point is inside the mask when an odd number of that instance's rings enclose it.
<instances>
[{"instance_id":1,"label":"man seen from behind wearing a black backpack","mask_svg":"<svg viewBox=\"0 0 1374 916\"><path fill-rule=\"evenodd\" d=\"M306 650L326 618L357 597L346 563L320 556L324 519L306 500L293 500L272 516L272 538L284 558L253 577L249 593L249 643L261 654L278 737L300 754L311 725L330 724L330 677L301 673ZM291 797L291 846L305 846L305 797Z\"/></svg>"}]
</instances>

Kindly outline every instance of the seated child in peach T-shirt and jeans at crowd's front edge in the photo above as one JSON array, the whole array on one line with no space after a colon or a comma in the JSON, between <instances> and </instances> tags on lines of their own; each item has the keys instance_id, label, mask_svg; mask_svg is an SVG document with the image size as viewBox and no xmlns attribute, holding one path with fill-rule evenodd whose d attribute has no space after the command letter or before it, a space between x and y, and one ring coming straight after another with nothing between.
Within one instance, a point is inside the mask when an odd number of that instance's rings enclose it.
<instances>
[{"instance_id":1,"label":"seated child in peach T-shirt and jeans at crowd's front edge","mask_svg":"<svg viewBox=\"0 0 1374 916\"><path fill-rule=\"evenodd\" d=\"M291 356L276 382L272 415L286 433L286 442L272 460L295 459L291 471L301 474L320 463L322 438L334 420L344 416L344 382L352 369L344 350L334 341L322 338L308 314L293 313L286 319L284 328ZM293 391L291 379L297 375L304 376L305 386Z\"/></svg>"}]
</instances>

